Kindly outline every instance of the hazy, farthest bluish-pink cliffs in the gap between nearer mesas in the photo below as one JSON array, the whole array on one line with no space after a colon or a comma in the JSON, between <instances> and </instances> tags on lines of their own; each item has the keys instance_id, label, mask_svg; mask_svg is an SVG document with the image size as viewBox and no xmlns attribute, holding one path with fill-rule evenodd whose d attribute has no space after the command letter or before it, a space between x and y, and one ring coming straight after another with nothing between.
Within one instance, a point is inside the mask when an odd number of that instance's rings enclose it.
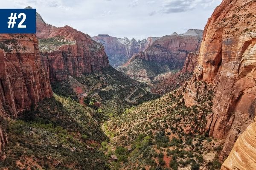
<instances>
[{"instance_id":1,"label":"hazy, farthest bluish-pink cliffs in the gap between nearer mesas","mask_svg":"<svg viewBox=\"0 0 256 170\"><path fill-rule=\"evenodd\" d=\"M132 39L130 41L128 38L116 38L107 34L99 34L98 36L92 37L92 39L104 45L110 65L117 68L127 62L134 54L144 51L148 45L151 45L159 38L149 37L148 40L143 39L142 41L137 41Z\"/></svg>"}]
</instances>

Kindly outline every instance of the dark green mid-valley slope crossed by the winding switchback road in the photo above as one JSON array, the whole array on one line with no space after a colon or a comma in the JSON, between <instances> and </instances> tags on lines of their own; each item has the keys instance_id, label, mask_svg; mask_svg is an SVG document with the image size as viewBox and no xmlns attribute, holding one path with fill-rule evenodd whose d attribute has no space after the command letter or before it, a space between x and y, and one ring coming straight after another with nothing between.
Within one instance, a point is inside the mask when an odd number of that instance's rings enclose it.
<instances>
[{"instance_id":1,"label":"dark green mid-valley slope crossed by the winding switchback road","mask_svg":"<svg viewBox=\"0 0 256 170\"><path fill-rule=\"evenodd\" d=\"M78 100L80 92L76 93L73 86L84 89L84 94L87 96L83 99L85 105L95 110L101 108L106 116L117 116L126 108L159 97L148 92L149 86L145 83L137 82L112 67L104 68L102 72L84 74L75 79L69 78L69 81L52 83L52 90L60 96L70 96ZM128 97L136 88L137 90ZM90 105L90 102L93 102L93 105Z\"/></svg>"}]
</instances>

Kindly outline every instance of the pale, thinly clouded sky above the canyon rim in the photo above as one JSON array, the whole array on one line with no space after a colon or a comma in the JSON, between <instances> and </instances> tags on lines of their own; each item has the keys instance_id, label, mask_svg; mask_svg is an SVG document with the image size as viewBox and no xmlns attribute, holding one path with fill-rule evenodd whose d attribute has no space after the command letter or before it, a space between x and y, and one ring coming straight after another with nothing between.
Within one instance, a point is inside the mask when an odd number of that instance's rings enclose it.
<instances>
[{"instance_id":1,"label":"pale, thinly clouded sky above the canyon rim","mask_svg":"<svg viewBox=\"0 0 256 170\"><path fill-rule=\"evenodd\" d=\"M31 6L53 26L90 36L142 40L204 29L221 0L0 0L1 8Z\"/></svg>"}]
</instances>

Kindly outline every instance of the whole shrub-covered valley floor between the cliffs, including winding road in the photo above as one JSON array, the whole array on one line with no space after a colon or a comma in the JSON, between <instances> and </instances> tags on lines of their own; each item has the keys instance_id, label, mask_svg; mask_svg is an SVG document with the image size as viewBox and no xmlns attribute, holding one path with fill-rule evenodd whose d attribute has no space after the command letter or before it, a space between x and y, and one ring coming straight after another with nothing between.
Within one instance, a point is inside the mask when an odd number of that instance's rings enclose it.
<instances>
[{"instance_id":1,"label":"whole shrub-covered valley floor between the cliffs, including winding road","mask_svg":"<svg viewBox=\"0 0 256 170\"><path fill-rule=\"evenodd\" d=\"M204 82L202 82L204 83ZM158 99L112 69L52 84L9 119L4 170L218 170L222 141L205 132L212 91L187 108L181 90ZM148 101L148 102L147 102ZM199 118L198 118L198 115Z\"/></svg>"}]
</instances>

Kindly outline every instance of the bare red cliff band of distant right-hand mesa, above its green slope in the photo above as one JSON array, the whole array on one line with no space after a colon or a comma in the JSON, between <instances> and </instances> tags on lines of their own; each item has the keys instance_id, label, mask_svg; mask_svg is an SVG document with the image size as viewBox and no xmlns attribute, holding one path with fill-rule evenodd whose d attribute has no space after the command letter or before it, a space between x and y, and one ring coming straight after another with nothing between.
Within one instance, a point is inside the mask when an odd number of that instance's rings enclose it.
<instances>
[{"instance_id":1,"label":"bare red cliff band of distant right-hand mesa, above its green slope","mask_svg":"<svg viewBox=\"0 0 256 170\"><path fill-rule=\"evenodd\" d=\"M187 55L200 48L203 30L188 30L183 35L173 33L161 37L132 59L140 58L155 62L184 63Z\"/></svg>"}]
</instances>

